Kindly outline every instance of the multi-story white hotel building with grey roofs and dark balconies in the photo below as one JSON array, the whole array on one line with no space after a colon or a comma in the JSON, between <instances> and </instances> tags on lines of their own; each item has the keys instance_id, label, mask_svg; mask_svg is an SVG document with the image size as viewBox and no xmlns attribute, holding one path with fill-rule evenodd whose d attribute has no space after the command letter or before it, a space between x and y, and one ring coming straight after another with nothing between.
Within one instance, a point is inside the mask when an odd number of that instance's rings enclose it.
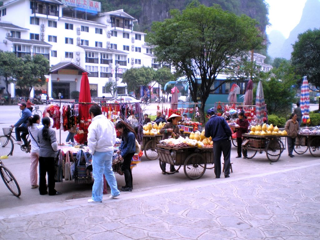
<instances>
[{"instance_id":1,"label":"multi-story white hotel building with grey roofs and dark balconies","mask_svg":"<svg viewBox=\"0 0 320 240\"><path fill-rule=\"evenodd\" d=\"M70 98L80 90L83 72L88 72L91 96L108 96L105 84L117 83L117 93L127 93L123 73L132 67L161 65L145 34L133 31L137 22L122 9L100 12L100 2L91 0L4 0L0 7L0 50L18 57L42 54L50 60L48 83L32 93L59 92ZM158 87L155 85L155 87ZM15 95L14 85L10 88ZM109 95L110 96L110 95Z\"/></svg>"}]
</instances>

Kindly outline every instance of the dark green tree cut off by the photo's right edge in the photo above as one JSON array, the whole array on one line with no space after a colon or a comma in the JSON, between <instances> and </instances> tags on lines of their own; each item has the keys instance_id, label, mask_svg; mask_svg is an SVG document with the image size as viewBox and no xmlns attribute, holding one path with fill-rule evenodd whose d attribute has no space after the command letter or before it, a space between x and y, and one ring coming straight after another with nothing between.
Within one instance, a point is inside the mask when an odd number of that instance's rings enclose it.
<instances>
[{"instance_id":1,"label":"dark green tree cut off by the photo's right edge","mask_svg":"<svg viewBox=\"0 0 320 240\"><path fill-rule=\"evenodd\" d=\"M308 83L320 91L320 29L309 29L298 35L298 41L293 44L291 60L295 73L300 75L298 84L301 84L302 76L307 76Z\"/></svg>"}]
</instances>

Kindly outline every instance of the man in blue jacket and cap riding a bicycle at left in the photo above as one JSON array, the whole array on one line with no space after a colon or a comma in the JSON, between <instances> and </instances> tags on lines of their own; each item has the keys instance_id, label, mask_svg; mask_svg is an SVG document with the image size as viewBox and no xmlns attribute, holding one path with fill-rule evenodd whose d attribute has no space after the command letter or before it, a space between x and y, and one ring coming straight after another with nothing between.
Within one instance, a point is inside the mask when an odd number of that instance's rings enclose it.
<instances>
[{"instance_id":1,"label":"man in blue jacket and cap riding a bicycle at left","mask_svg":"<svg viewBox=\"0 0 320 240\"><path fill-rule=\"evenodd\" d=\"M32 113L27 108L27 104L25 102L21 102L18 104L20 110L22 111L22 115L16 124L12 124L11 127L15 127L16 131L16 140L17 144L22 144L21 139L23 140L24 145L27 145L27 134L28 134L28 121L29 117L32 116ZM20 126L21 125L21 126ZM20 132L22 132L20 137Z\"/></svg>"}]
</instances>

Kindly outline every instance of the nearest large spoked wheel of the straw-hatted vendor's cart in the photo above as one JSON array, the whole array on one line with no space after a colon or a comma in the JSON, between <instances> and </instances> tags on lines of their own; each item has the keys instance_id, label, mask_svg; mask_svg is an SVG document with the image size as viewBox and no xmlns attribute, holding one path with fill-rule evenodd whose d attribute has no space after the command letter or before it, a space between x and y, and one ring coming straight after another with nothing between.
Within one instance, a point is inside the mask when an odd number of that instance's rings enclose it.
<instances>
[{"instance_id":1,"label":"nearest large spoked wheel of the straw-hatted vendor's cart","mask_svg":"<svg viewBox=\"0 0 320 240\"><path fill-rule=\"evenodd\" d=\"M191 154L184 161L184 173L191 180L200 178L204 174L206 168L206 160L198 153Z\"/></svg>"}]
</instances>

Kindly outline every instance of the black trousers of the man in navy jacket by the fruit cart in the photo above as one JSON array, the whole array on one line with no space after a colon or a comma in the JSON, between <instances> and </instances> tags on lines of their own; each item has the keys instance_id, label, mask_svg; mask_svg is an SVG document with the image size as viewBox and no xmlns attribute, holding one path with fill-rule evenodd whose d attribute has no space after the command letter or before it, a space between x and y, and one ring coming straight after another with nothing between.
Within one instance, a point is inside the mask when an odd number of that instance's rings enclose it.
<instances>
[{"instance_id":1,"label":"black trousers of the man in navy jacket by the fruit cart","mask_svg":"<svg viewBox=\"0 0 320 240\"><path fill-rule=\"evenodd\" d=\"M221 175L221 154L224 158L224 174L230 174L230 154L231 154L231 141L222 140L213 143L213 161L214 161L214 173L216 178L220 178Z\"/></svg>"}]
</instances>

